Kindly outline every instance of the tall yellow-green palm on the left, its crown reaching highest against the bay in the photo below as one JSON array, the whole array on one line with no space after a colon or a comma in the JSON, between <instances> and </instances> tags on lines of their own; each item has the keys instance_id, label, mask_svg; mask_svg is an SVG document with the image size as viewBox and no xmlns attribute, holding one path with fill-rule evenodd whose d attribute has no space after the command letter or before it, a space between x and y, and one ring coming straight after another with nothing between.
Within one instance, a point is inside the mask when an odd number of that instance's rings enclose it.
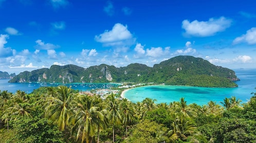
<instances>
[{"instance_id":1,"label":"tall yellow-green palm on the left, its crown reaching highest against the bay","mask_svg":"<svg viewBox=\"0 0 256 143\"><path fill-rule=\"evenodd\" d=\"M71 87L58 86L56 97L50 96L46 100L45 116L50 118L54 123L57 123L63 131L68 124L68 118L71 115L71 108L74 99L74 93L71 92Z\"/></svg>"}]
</instances>

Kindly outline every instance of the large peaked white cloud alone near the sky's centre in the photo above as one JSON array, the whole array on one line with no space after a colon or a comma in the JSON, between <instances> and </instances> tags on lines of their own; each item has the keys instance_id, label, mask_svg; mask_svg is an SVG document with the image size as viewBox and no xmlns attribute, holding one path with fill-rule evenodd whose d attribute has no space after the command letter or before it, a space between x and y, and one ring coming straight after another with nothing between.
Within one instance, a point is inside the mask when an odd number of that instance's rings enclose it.
<instances>
[{"instance_id":1,"label":"large peaked white cloud alone near the sky's centre","mask_svg":"<svg viewBox=\"0 0 256 143\"><path fill-rule=\"evenodd\" d=\"M116 23L111 31L106 30L99 36L95 36L95 40L103 43L104 46L131 46L136 40L133 38L127 26Z\"/></svg>"}]
</instances>

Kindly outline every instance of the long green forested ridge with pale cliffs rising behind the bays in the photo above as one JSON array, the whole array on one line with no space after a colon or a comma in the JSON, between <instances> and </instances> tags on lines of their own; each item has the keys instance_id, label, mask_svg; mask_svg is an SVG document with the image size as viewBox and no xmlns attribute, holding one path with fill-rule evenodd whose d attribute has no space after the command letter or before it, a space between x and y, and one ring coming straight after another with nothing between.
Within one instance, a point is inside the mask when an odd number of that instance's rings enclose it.
<instances>
[{"instance_id":1,"label":"long green forested ridge with pale cliffs rising behind the bays","mask_svg":"<svg viewBox=\"0 0 256 143\"><path fill-rule=\"evenodd\" d=\"M143 82L202 87L235 87L235 72L192 56L177 56L149 67L133 63L126 67L106 64L88 68L76 65L52 65L50 68L24 71L11 79L15 82L108 83Z\"/></svg>"}]
</instances>

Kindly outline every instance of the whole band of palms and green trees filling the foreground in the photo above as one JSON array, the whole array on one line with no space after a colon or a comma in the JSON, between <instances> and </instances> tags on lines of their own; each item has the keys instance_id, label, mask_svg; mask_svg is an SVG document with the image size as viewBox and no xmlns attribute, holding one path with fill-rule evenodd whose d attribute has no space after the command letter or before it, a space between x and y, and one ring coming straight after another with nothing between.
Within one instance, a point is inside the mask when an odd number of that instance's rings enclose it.
<instances>
[{"instance_id":1,"label":"whole band of palms and green trees filling the foreground","mask_svg":"<svg viewBox=\"0 0 256 143\"><path fill-rule=\"evenodd\" d=\"M0 142L256 142L256 93L220 104L106 99L66 86L0 91Z\"/></svg>"}]
</instances>

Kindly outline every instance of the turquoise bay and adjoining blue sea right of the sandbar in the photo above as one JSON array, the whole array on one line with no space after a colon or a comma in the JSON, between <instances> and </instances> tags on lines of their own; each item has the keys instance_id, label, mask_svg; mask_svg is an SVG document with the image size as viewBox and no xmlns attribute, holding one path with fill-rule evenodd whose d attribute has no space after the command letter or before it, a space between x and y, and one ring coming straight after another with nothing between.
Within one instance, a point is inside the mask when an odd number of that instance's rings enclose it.
<instances>
[{"instance_id":1,"label":"turquoise bay and adjoining blue sea right of the sandbar","mask_svg":"<svg viewBox=\"0 0 256 143\"><path fill-rule=\"evenodd\" d=\"M235 69L236 76L240 81L236 81L239 87L235 88L209 88L209 87L193 87L193 86L144 86L129 89L124 92L124 98L136 103L141 102L145 98L156 99L156 103L170 103L185 98L187 104L196 103L205 105L209 101L221 104L225 97L242 100L247 102L252 94L256 92L256 69Z\"/></svg>"}]
</instances>

